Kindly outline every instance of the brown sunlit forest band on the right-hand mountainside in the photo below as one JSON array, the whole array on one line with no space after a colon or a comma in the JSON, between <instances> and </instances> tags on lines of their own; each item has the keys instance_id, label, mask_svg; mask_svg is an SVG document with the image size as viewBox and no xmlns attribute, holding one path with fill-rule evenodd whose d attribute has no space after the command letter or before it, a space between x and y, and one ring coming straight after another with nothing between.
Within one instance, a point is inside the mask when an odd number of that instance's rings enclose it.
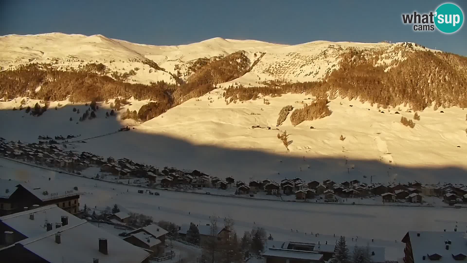
<instances>
[{"instance_id":1,"label":"brown sunlit forest band on the right-hand mountainside","mask_svg":"<svg viewBox=\"0 0 467 263\"><path fill-rule=\"evenodd\" d=\"M339 69L322 81L276 84L265 87L229 87L226 102L246 101L259 95L280 96L304 93L318 98L338 96L361 102L393 106L409 104L413 110L424 110L432 102L439 106L467 107L467 58L452 53L417 51L411 45L396 48L403 61L378 65L384 52L347 49L340 55ZM390 66L390 69L387 68Z\"/></svg>"}]
</instances>

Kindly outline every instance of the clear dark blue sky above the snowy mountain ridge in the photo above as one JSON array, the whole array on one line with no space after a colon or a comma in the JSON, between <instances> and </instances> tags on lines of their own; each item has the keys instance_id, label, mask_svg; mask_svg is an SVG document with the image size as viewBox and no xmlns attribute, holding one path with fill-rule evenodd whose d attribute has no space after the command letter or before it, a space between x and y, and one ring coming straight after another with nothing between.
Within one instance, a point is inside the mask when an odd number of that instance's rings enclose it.
<instances>
[{"instance_id":1,"label":"clear dark blue sky above the snowy mountain ridge","mask_svg":"<svg viewBox=\"0 0 467 263\"><path fill-rule=\"evenodd\" d=\"M467 1L453 0L467 15ZM414 32L403 13L434 0L11 0L0 3L0 35L62 32L135 43L189 44L212 37L280 44L314 40L408 41L467 56L467 26L455 34ZM464 22L464 24L467 22Z\"/></svg>"}]
</instances>

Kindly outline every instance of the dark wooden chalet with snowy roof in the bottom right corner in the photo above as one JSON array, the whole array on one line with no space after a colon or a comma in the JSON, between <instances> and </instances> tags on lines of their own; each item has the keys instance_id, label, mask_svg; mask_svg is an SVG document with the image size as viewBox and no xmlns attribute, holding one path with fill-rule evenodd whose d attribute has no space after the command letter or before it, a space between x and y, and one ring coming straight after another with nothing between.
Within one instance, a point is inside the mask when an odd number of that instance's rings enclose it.
<instances>
[{"instance_id":1,"label":"dark wooden chalet with snowy roof in the bottom right corner","mask_svg":"<svg viewBox=\"0 0 467 263\"><path fill-rule=\"evenodd\" d=\"M409 231L402 242L404 263L466 262L467 243L461 232Z\"/></svg>"}]
</instances>

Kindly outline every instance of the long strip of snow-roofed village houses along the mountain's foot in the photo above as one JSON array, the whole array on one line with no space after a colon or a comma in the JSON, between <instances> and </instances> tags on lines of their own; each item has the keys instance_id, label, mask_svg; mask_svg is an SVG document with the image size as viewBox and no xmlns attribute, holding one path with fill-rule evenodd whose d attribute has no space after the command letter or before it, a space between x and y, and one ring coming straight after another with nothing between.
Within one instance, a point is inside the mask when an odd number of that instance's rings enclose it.
<instances>
[{"instance_id":1,"label":"long strip of snow-roofed village houses along the mountain's foot","mask_svg":"<svg viewBox=\"0 0 467 263\"><path fill-rule=\"evenodd\" d=\"M61 138L60 138L61 139ZM51 168L61 168L73 173L80 173L90 166L100 167L102 173L118 176L120 179L147 178L150 186L162 188L217 188L226 190L235 188L235 194L254 194L263 191L269 195L292 195L297 199L311 199L316 196L323 197L327 202L337 202L338 197L364 198L381 196L383 202L411 202L422 203L423 196L443 198L443 201L453 205L467 202L467 186L463 184L436 184L422 185L418 182L407 184L367 184L359 180L336 183L331 179L323 182L311 181L305 183L301 178L284 179L275 182L269 179L262 181L252 180L248 183L236 181L229 176L221 179L209 176L198 170L191 172L176 168L165 167L161 171L153 166L136 163L123 158L114 160L88 153L64 151L55 144L40 141L39 143L7 142L0 138L0 155L31 161Z\"/></svg>"}]
</instances>

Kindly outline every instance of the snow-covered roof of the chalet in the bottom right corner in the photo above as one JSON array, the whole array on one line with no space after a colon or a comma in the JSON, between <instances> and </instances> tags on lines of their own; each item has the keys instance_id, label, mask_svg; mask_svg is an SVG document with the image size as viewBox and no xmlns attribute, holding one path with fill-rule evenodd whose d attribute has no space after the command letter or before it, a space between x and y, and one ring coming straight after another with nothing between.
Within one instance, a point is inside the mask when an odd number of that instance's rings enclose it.
<instances>
[{"instance_id":1,"label":"snow-covered roof of the chalet in the bottom right corner","mask_svg":"<svg viewBox=\"0 0 467 263\"><path fill-rule=\"evenodd\" d=\"M417 236L420 234L420 236ZM455 260L453 255L464 254L467 256L467 242L461 232L440 232L440 231L409 231L403 241L409 235L412 245L414 263L425 263L429 255L438 254L441 256L438 263L460 263L464 260ZM450 240L449 250L446 250L446 241ZM425 256L425 261L423 260Z\"/></svg>"}]
</instances>

